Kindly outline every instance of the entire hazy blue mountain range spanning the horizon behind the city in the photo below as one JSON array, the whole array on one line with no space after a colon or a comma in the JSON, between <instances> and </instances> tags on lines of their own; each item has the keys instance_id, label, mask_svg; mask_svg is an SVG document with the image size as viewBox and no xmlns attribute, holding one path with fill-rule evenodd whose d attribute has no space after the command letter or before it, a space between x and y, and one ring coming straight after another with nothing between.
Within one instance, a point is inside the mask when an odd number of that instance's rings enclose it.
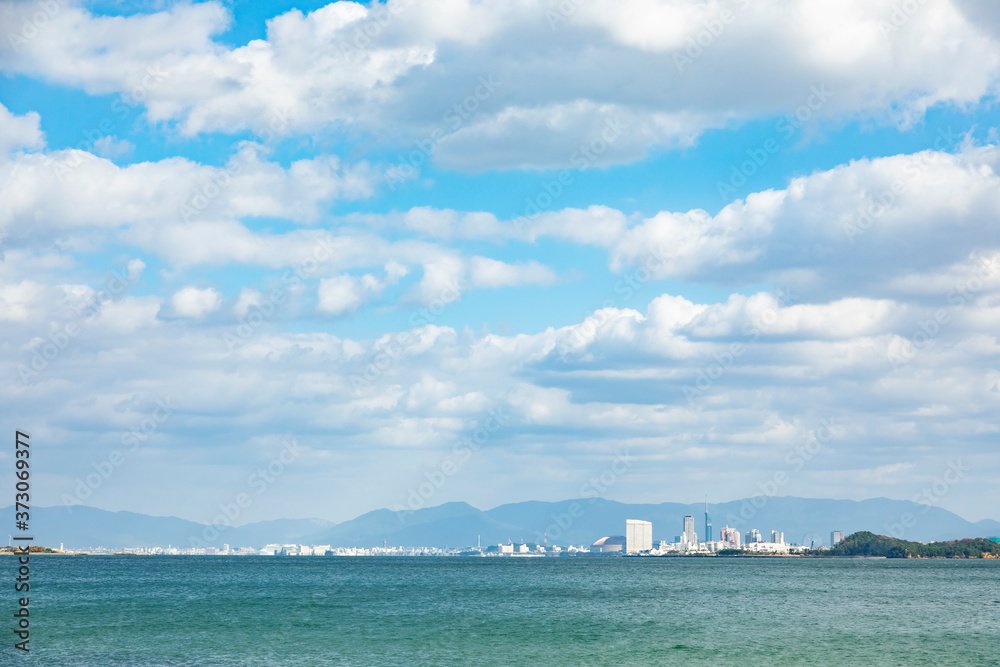
<instances>
[{"instance_id":1,"label":"entire hazy blue mountain range spanning the horizon behind the city","mask_svg":"<svg viewBox=\"0 0 1000 667\"><path fill-rule=\"evenodd\" d=\"M936 507L905 500L826 500L769 497L709 505L714 536L724 525L747 532L757 528L765 537L771 530L784 532L796 544L829 543L830 531L845 535L869 531L910 541L929 542L1000 535L1000 522L973 523ZM591 544L605 535L622 535L626 519L653 523L653 541L673 541L681 533L685 515L695 520L704 539L702 504L626 504L602 498L559 502L528 501L479 510L466 503L446 503L414 512L386 509L363 514L340 524L319 519L278 519L227 528L211 543L215 546L261 547L268 543L331 544L333 546L483 545L541 542L550 545ZM0 520L12 526L13 508L0 510ZM909 524L909 525L907 525ZM153 517L135 512L108 512L93 507L34 507L31 513L35 543L67 548L105 546L191 546L204 539L206 526L177 517ZM211 531L209 531L211 536Z\"/></svg>"}]
</instances>

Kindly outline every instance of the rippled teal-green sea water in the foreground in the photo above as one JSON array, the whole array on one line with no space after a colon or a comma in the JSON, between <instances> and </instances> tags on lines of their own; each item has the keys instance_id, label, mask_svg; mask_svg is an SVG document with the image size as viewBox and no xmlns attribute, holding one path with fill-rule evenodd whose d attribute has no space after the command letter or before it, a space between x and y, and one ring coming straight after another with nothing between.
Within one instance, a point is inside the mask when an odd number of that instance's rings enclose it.
<instances>
[{"instance_id":1,"label":"rippled teal-green sea water in the foreground","mask_svg":"<svg viewBox=\"0 0 1000 667\"><path fill-rule=\"evenodd\" d=\"M13 581L13 558L7 570ZM4 665L1000 665L1000 561L31 559ZM14 611L13 586L3 604Z\"/></svg>"}]
</instances>

